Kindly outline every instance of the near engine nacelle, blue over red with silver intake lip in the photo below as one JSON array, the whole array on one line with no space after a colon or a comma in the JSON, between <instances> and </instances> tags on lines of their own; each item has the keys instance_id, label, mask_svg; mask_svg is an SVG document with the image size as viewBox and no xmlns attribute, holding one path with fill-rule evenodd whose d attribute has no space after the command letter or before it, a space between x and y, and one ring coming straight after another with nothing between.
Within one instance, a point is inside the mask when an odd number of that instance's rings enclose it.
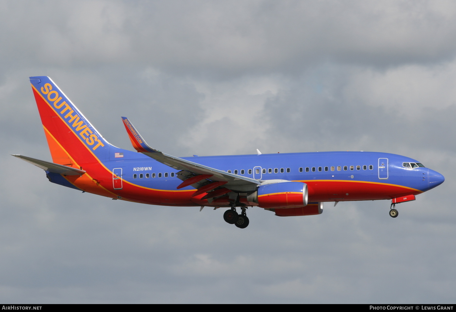
<instances>
[{"instance_id":1,"label":"near engine nacelle, blue over red with silver intake lip","mask_svg":"<svg viewBox=\"0 0 456 312\"><path fill-rule=\"evenodd\" d=\"M306 183L289 181L260 185L247 199L260 208L297 208L306 206L308 197Z\"/></svg>"}]
</instances>

